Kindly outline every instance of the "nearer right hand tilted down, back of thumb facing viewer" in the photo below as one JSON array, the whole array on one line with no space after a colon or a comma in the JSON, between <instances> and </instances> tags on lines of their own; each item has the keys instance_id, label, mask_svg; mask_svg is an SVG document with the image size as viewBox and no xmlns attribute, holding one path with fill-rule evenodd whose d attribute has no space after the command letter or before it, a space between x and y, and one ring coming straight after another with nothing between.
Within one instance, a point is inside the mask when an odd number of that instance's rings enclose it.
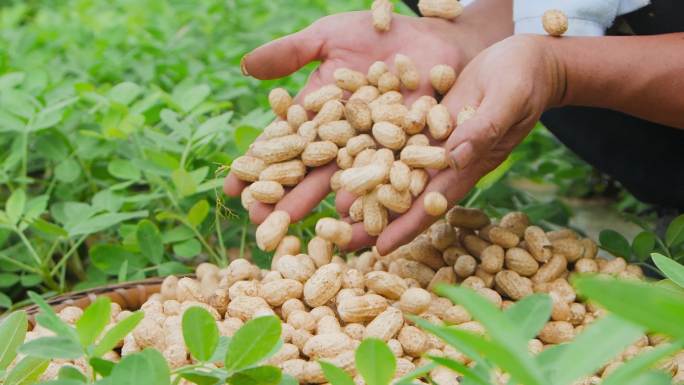
<instances>
[{"instance_id":1,"label":"nearer right hand tilted down, back of thumb facing viewer","mask_svg":"<svg viewBox=\"0 0 684 385\"><path fill-rule=\"evenodd\" d=\"M442 101L453 116L465 106L477 108L445 144L452 167L434 174L411 209L380 234L376 243L380 254L409 242L438 219L425 213L426 193L439 191L455 204L506 159L545 109L560 103L565 89L564 68L545 45L548 39L510 37L484 50L466 66Z\"/></svg>"}]
</instances>

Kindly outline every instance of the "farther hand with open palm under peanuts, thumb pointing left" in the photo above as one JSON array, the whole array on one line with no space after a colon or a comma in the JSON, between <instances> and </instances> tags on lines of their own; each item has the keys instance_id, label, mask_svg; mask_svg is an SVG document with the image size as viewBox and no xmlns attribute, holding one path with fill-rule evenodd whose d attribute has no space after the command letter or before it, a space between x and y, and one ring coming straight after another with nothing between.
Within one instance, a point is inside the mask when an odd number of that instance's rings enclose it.
<instances>
[{"instance_id":1,"label":"farther hand with open palm under peanuts, thumb pointing left","mask_svg":"<svg viewBox=\"0 0 684 385\"><path fill-rule=\"evenodd\" d=\"M483 0L481 6L487 2ZM500 3L498 5L501 8ZM474 11L470 10L471 13ZM404 94L405 102L410 104L421 95L433 94L429 82L429 71L433 66L448 64L458 73L487 45L512 31L512 25L504 23L496 32L482 33L481 20L475 16L469 18L468 12L466 8L457 22L395 14L388 32L377 32L371 27L369 12L324 17L300 32L250 52L243 59L243 71L258 79L275 79L287 76L312 61L321 61L295 98L297 102L303 95L334 83L333 73L338 68L365 73L375 61L384 61L392 69L394 56L401 53L413 59L421 75L419 88ZM510 20L508 13L503 12L501 17ZM274 209L287 211L292 221L302 219L330 192L329 181L335 171L337 165L334 162L312 170L275 206L260 202L252 204L250 219L261 223ZM229 196L239 196L246 185L229 174L224 182L224 192ZM338 192L336 200L338 210L347 213L354 197ZM358 225L354 234L350 249L372 242L372 238Z\"/></svg>"}]
</instances>

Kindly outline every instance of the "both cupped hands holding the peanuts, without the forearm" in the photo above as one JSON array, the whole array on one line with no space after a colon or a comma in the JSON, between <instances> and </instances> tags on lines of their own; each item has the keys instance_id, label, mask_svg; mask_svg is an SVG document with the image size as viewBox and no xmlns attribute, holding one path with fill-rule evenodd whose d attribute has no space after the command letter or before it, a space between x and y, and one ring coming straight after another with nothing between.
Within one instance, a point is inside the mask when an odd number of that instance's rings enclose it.
<instances>
[{"instance_id":1,"label":"both cupped hands holding the peanuts, without the forearm","mask_svg":"<svg viewBox=\"0 0 684 385\"><path fill-rule=\"evenodd\" d=\"M459 21L394 15L391 30L377 32L369 12L328 16L308 28L265 44L247 54L243 71L257 79L287 76L312 61L320 66L311 74L295 100L327 84L334 84L338 68L365 73L376 61L392 66L398 53L411 58L420 72L417 90L404 93L411 105L422 95L434 95L430 69L438 64L452 66L458 75L444 104L452 116L473 106L475 116L454 129L443 145L455 167L431 173L425 193L438 191L456 204L477 181L503 162L538 121L541 113L560 100L562 68L541 37L513 36L486 47L477 31L459 28ZM273 210L284 210L293 222L304 218L330 192L330 178L337 171L332 162L312 170L276 205L255 202L250 219L261 223ZM229 174L224 191L239 196L246 183ZM336 208L342 218L356 197L345 191L336 194ZM390 218L392 222L378 236L371 237L363 224L353 225L354 250L375 244L386 254L409 242L436 219L423 208L422 196L409 211Z\"/></svg>"}]
</instances>

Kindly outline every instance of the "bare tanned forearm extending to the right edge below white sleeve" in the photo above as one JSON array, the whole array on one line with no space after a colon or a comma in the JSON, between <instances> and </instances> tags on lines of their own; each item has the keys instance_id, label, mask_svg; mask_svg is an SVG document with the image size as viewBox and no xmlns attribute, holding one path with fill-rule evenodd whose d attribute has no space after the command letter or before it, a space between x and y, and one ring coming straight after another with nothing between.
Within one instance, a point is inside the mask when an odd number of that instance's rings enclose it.
<instances>
[{"instance_id":1,"label":"bare tanned forearm extending to the right edge below white sleeve","mask_svg":"<svg viewBox=\"0 0 684 385\"><path fill-rule=\"evenodd\" d=\"M544 39L565 79L560 105L608 108L684 129L684 33Z\"/></svg>"}]
</instances>

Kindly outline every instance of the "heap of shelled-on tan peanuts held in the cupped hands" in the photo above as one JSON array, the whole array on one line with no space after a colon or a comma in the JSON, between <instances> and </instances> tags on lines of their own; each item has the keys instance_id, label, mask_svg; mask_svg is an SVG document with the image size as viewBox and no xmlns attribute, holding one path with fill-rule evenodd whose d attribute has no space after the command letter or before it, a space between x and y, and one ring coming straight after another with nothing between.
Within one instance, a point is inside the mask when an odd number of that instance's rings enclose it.
<instances>
[{"instance_id":1,"label":"heap of shelled-on tan peanuts held in the cupped hands","mask_svg":"<svg viewBox=\"0 0 684 385\"><path fill-rule=\"evenodd\" d=\"M396 74L384 62L374 63L367 74L338 69L336 84L306 95L303 105L294 104L284 89L274 89L269 101L279 119L264 129L247 155L231 165L234 175L251 182L242 193L243 206L248 208L254 201L275 204L285 194L284 186L297 185L307 169L336 161L340 170L331 187L358 196L350 216L363 221L368 234L382 232L389 211L405 213L427 185L426 170L448 165L445 149L430 145L421 132L427 127L432 139L445 140L455 122L432 96L419 98L410 108L402 104L399 91L415 90L420 75L405 55L396 55L394 68ZM431 81L437 92L447 92L455 81L453 68L435 66ZM474 113L473 108L465 108L458 124ZM447 201L433 192L425 194L423 205L430 215L440 216ZM285 212L271 214L257 230L259 247L274 250L289 222Z\"/></svg>"}]
</instances>

